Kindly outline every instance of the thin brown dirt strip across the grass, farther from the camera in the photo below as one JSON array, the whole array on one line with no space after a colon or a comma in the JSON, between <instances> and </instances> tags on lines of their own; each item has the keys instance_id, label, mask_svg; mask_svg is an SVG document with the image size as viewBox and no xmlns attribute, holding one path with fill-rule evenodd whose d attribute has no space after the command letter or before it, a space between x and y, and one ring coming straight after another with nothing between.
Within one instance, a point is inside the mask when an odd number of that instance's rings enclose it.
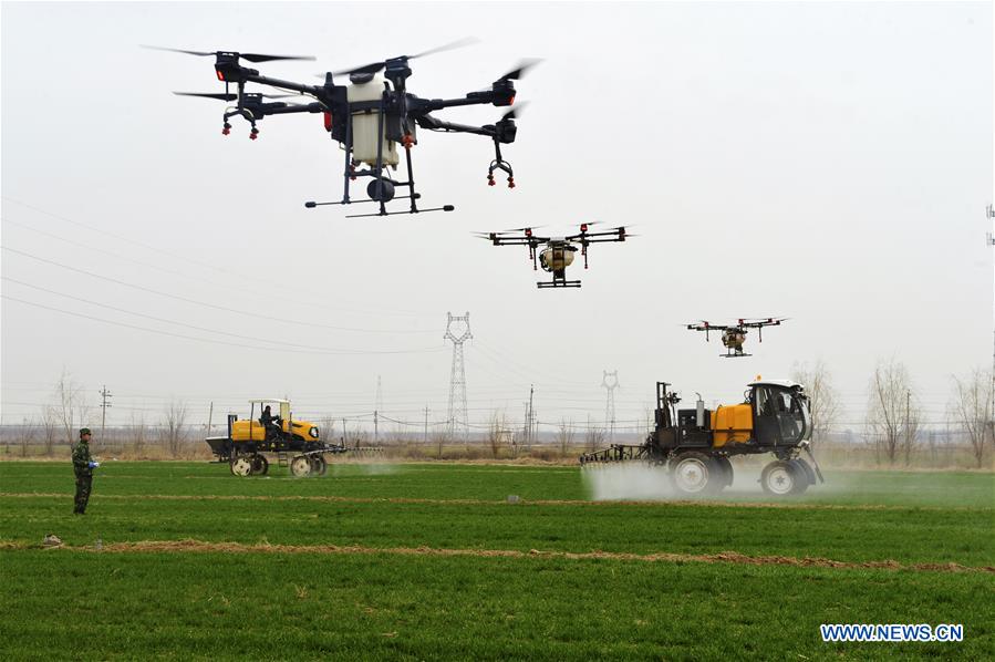
<instances>
[{"instance_id":1,"label":"thin brown dirt strip across the grass, farther from the camera","mask_svg":"<svg viewBox=\"0 0 995 662\"><path fill-rule=\"evenodd\" d=\"M73 497L69 492L0 492L0 498L69 498ZM427 498L410 498L410 497L346 497L334 495L283 495L283 496L249 496L249 495L188 495L188 494L102 494L94 497L94 500L113 499L113 500L218 500L218 501L315 501L315 503L335 503L335 504L412 504L412 505L435 505L435 506L698 506L698 507L716 507L716 508L782 508L786 510L934 510L934 511L971 511L971 510L991 510L985 507L974 506L890 506L875 504L798 504L798 503L774 503L774 501L723 501L723 500L604 500L590 501L582 499L519 499L516 504L508 504L506 500L488 500L488 499L427 499Z\"/></svg>"}]
</instances>

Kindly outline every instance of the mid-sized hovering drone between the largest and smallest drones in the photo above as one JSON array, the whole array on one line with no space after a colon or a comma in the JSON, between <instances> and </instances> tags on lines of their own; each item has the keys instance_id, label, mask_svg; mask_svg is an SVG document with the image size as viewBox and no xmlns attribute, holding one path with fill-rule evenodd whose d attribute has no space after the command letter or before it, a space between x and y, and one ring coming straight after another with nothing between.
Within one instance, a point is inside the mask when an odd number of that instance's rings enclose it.
<instances>
[{"instance_id":1,"label":"mid-sized hovering drone between the largest and smallest drones","mask_svg":"<svg viewBox=\"0 0 995 662\"><path fill-rule=\"evenodd\" d=\"M584 269L588 268L588 246L599 241L624 241L626 236L624 227L612 228L603 232L589 232L587 223L581 224L580 232L569 237L538 237L532 234L532 228L518 228L502 230L500 232L478 232L478 237L489 239L495 246L528 246L529 259L532 260L532 269L536 266L536 252L540 244L546 248L539 251L538 265L543 271L552 273L551 281L539 281L536 285L543 288L579 288L579 280L567 280L567 267L573 263L577 246L580 244L580 254L584 258ZM514 236L522 232L521 236Z\"/></svg>"}]
</instances>

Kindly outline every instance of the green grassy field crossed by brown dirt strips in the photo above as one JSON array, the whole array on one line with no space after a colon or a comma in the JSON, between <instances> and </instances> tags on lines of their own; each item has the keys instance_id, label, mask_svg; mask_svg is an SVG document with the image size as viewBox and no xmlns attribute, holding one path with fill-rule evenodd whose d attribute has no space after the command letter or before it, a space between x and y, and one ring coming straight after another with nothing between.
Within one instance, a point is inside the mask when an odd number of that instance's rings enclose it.
<instances>
[{"instance_id":1,"label":"green grassy field crossed by brown dirt strips","mask_svg":"<svg viewBox=\"0 0 995 662\"><path fill-rule=\"evenodd\" d=\"M0 656L867 659L995 650L995 476L829 474L771 501L592 501L573 467L236 478L0 463ZM515 495L517 499L509 499ZM41 549L55 534L65 546ZM963 623L822 643L820 623Z\"/></svg>"}]
</instances>

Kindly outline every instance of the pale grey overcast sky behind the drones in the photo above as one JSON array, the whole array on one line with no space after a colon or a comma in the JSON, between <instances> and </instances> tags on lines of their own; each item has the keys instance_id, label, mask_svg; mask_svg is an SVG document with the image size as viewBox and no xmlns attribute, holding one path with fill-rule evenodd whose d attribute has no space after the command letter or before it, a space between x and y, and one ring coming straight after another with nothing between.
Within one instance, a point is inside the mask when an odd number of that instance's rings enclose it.
<instances>
[{"instance_id":1,"label":"pale grey overcast sky behind the drones","mask_svg":"<svg viewBox=\"0 0 995 662\"><path fill-rule=\"evenodd\" d=\"M892 355L940 420L951 374L992 364L992 28L988 2L4 2L2 422L63 369L91 404L115 394L110 423L267 395L362 414L377 376L387 415L443 420L447 311L470 312L476 421L520 418L530 384L540 421L598 420L603 370L634 421L657 380L735 402L822 360L859 422ZM410 90L462 96L542 58L504 151L518 187L486 185L486 138L424 132L423 203L457 210L387 220L304 209L341 195L320 116L221 136L224 104L170 94L220 91L211 59L138 48L313 54L253 65L313 83L467 35L413 61ZM524 248L470 234L595 219L639 237L593 247L579 290L538 290ZM791 320L742 360L683 327L768 316Z\"/></svg>"}]
</instances>

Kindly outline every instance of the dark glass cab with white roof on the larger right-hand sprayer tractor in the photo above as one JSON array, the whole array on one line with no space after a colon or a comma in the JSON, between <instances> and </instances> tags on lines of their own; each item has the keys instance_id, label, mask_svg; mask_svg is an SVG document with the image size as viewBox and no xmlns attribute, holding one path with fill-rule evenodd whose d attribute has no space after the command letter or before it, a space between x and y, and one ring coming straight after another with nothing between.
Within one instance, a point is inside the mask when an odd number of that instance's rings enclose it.
<instances>
[{"instance_id":1,"label":"dark glass cab with white roof on the larger right-hand sprayer tractor","mask_svg":"<svg viewBox=\"0 0 995 662\"><path fill-rule=\"evenodd\" d=\"M811 412L801 384L789 380L758 380L749 384L747 403L758 445L798 446L811 439Z\"/></svg>"}]
</instances>

